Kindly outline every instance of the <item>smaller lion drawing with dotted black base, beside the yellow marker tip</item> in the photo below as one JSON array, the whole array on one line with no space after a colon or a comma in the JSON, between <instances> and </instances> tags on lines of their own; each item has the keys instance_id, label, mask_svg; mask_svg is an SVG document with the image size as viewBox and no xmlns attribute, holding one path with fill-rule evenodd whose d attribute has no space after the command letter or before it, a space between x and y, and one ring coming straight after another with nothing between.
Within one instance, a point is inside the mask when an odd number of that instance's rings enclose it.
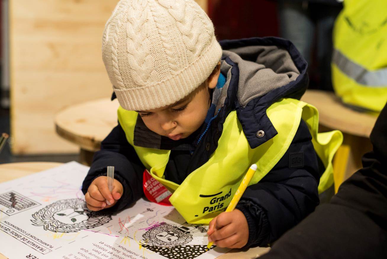
<instances>
[{"instance_id":1,"label":"smaller lion drawing with dotted black base, beside the yellow marker tip","mask_svg":"<svg viewBox=\"0 0 387 259\"><path fill-rule=\"evenodd\" d=\"M193 233L205 233L201 225L182 224L175 226L161 223L142 235L142 247L170 259L190 259L207 251L207 245L187 245L193 239ZM211 247L214 248L215 246Z\"/></svg>"}]
</instances>

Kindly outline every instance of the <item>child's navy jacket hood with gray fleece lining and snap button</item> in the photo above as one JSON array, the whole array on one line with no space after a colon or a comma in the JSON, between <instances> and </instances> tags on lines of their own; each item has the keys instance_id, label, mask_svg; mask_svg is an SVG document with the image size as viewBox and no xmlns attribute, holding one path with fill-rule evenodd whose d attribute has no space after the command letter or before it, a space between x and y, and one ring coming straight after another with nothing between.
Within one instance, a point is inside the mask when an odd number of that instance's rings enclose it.
<instances>
[{"instance_id":1,"label":"child's navy jacket hood with gray fleece lining and snap button","mask_svg":"<svg viewBox=\"0 0 387 259\"><path fill-rule=\"evenodd\" d=\"M277 100L300 99L308 86L307 63L288 40L275 37L220 41L226 76L217 102L219 122L236 110L250 147L277 134L266 109ZM223 119L222 119L223 118ZM264 135L257 137L257 132Z\"/></svg>"}]
</instances>

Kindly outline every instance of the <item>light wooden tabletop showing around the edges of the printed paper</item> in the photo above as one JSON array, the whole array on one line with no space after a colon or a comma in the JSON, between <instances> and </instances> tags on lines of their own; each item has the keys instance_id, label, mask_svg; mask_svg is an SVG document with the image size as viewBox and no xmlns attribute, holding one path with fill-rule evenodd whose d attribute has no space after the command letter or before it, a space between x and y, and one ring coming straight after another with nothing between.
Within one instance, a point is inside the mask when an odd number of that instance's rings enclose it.
<instances>
[{"instance_id":1,"label":"light wooden tabletop showing around the edges of the printed paper","mask_svg":"<svg viewBox=\"0 0 387 259\"><path fill-rule=\"evenodd\" d=\"M60 166L62 163L54 162L22 162L0 164L0 183L14 180L29 174L38 173L40 171ZM238 259L238 258L256 258L266 254L270 250L269 247L254 247L251 249L233 249L227 254L219 256L221 259ZM0 254L0 259L7 257Z\"/></svg>"}]
</instances>

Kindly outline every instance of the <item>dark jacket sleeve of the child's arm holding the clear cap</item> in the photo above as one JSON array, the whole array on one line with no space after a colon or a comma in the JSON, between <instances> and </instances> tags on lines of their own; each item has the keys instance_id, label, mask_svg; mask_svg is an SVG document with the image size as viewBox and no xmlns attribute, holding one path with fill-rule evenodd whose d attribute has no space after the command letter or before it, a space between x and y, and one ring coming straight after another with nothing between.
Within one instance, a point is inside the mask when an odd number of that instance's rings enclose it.
<instances>
[{"instance_id":1,"label":"dark jacket sleeve of the child's arm holding the clear cap","mask_svg":"<svg viewBox=\"0 0 387 259\"><path fill-rule=\"evenodd\" d=\"M122 197L111 208L111 211L118 211L143 195L142 173L145 169L134 148L128 143L120 124L101 142L101 150L94 154L89 172L82 183L84 194L96 177L106 175L107 166L114 166L114 178L123 186Z\"/></svg>"}]
</instances>

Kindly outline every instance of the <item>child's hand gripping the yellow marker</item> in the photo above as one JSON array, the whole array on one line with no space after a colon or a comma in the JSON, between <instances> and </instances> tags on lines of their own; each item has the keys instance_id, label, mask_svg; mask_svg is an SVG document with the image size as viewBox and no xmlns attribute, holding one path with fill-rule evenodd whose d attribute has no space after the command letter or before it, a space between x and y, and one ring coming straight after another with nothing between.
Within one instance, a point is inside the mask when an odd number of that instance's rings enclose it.
<instances>
[{"instance_id":1,"label":"child's hand gripping the yellow marker","mask_svg":"<svg viewBox=\"0 0 387 259\"><path fill-rule=\"evenodd\" d=\"M248 241L248 224L245 214L238 209L222 212L211 220L207 231L208 242L218 247L241 248Z\"/></svg>"}]
</instances>

